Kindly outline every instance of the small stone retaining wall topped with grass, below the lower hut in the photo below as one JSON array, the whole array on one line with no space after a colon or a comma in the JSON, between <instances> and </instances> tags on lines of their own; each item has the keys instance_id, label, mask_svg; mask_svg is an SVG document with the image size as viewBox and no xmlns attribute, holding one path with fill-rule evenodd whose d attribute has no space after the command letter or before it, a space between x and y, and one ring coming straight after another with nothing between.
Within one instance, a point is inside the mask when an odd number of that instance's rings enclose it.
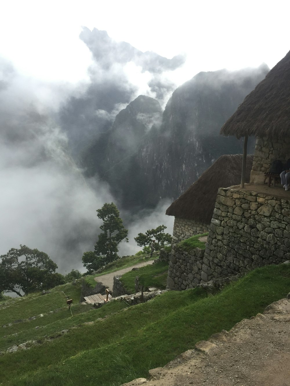
<instances>
[{"instance_id":1,"label":"small stone retaining wall topped with grass, below the lower hut","mask_svg":"<svg viewBox=\"0 0 290 386\"><path fill-rule=\"evenodd\" d=\"M167 289L181 291L200 284L203 277L201 269L204 253L205 251L200 248L186 252L179 249L177 244L173 244L169 260Z\"/></svg>"}]
</instances>

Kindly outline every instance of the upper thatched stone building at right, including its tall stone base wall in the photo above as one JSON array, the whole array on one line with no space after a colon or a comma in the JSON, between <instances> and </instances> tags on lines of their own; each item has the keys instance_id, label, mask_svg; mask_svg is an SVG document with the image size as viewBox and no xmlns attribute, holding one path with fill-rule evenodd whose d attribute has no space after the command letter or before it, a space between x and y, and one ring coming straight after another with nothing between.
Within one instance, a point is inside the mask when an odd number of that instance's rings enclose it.
<instances>
[{"instance_id":1,"label":"upper thatched stone building at right, including its tall stone base wall","mask_svg":"<svg viewBox=\"0 0 290 386\"><path fill-rule=\"evenodd\" d=\"M223 125L223 135L257 138L249 184L218 190L203 280L290 260L290 191L264 184L275 159L290 158L290 52ZM244 185L244 186L243 186Z\"/></svg>"}]
</instances>

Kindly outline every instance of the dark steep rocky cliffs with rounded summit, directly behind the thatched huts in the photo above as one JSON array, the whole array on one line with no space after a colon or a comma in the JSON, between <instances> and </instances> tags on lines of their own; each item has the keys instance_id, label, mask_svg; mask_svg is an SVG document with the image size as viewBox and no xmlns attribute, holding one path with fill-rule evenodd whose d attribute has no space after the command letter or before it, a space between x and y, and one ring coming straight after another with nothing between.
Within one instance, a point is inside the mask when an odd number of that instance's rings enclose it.
<instances>
[{"instance_id":1,"label":"dark steep rocky cliffs with rounded summit, directly behind the thatched huts","mask_svg":"<svg viewBox=\"0 0 290 386\"><path fill-rule=\"evenodd\" d=\"M261 66L199 73L174 91L161 125L158 102L138 97L117 115L106 139L93 144L84 166L101 174L126 208L177 198L219 156L242 152L242 141L220 136L220 128L267 72ZM253 149L250 140L248 152Z\"/></svg>"}]
</instances>

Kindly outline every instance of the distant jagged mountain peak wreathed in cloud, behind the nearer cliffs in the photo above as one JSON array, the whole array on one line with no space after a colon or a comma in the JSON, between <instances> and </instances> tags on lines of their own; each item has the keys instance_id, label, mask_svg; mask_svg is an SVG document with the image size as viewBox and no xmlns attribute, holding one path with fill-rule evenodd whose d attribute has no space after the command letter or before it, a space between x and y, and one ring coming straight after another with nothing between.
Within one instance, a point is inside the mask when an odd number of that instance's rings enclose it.
<instances>
[{"instance_id":1,"label":"distant jagged mountain peak wreathed in cloud, behind the nearer cliffs","mask_svg":"<svg viewBox=\"0 0 290 386\"><path fill-rule=\"evenodd\" d=\"M117 113L138 95L157 98L164 105L175 88L164 73L179 68L185 59L141 52L96 28L83 27L80 39L94 59L88 69L90 84L69 98L61 109L59 124L67 133L72 154L82 157L82 150L99 133L109 130Z\"/></svg>"}]
</instances>

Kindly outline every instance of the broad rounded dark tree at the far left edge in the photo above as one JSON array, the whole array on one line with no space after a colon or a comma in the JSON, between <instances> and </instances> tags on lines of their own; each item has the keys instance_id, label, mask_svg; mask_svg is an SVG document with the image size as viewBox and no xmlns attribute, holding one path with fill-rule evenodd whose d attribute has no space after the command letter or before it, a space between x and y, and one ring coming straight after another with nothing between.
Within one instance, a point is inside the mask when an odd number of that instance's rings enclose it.
<instances>
[{"instance_id":1,"label":"broad rounded dark tree at the far left edge","mask_svg":"<svg viewBox=\"0 0 290 386\"><path fill-rule=\"evenodd\" d=\"M56 274L57 265L38 249L20 245L0 256L0 292L14 292L19 296L61 284L62 275Z\"/></svg>"}]
</instances>

